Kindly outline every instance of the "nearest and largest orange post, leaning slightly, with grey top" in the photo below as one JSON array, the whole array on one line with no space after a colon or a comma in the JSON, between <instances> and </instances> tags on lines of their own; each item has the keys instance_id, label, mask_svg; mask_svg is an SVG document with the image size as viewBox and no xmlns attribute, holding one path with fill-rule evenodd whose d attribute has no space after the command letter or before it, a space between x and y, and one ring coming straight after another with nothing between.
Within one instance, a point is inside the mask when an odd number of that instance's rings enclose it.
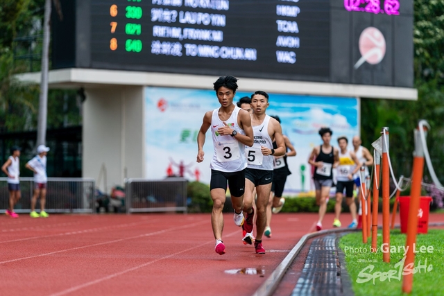
<instances>
[{"instance_id":1,"label":"nearest and largest orange post, leaning slightly, with grey top","mask_svg":"<svg viewBox=\"0 0 444 296\"><path fill-rule=\"evenodd\" d=\"M420 138L419 128L415 130L415 157L413 157L413 177L411 179L409 221L407 222L407 254L404 261L404 270L415 265L415 253L413 247L416 244L416 234L418 232L418 209L420 203L422 173L424 170L424 150ZM413 286L413 273L404 275L402 278L402 292L411 293Z\"/></svg>"}]
</instances>

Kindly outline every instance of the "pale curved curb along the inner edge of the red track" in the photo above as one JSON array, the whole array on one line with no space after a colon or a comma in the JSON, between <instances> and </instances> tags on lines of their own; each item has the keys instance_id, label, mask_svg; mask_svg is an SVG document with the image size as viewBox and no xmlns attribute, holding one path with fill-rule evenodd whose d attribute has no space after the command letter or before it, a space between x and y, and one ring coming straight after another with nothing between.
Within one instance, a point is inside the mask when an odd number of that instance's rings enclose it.
<instances>
[{"instance_id":1,"label":"pale curved curb along the inner edge of the red track","mask_svg":"<svg viewBox=\"0 0 444 296\"><path fill-rule=\"evenodd\" d=\"M429 227L432 226L443 226L444 222L436 222L436 223L429 223ZM395 228L400 228L400 225L395 225ZM378 229L382 229L382 226L378 227ZM316 236L323 236L326 234L334 234L334 233L346 233L346 232L358 232L360 229L325 229L321 230L320 232L311 232L310 234L305 234L305 236L302 236L298 243L291 249L289 254L282 260L282 262L278 265L278 267L271 273L270 277L268 277L264 284L259 286L259 288L253 293L252 296L271 296L275 292L276 288L278 288L278 285L280 281L282 280L282 277L284 277L285 272L289 269L290 264L294 261L296 256L299 254L300 250L302 250L302 247L305 245L305 243L310 239L314 238Z\"/></svg>"}]
</instances>

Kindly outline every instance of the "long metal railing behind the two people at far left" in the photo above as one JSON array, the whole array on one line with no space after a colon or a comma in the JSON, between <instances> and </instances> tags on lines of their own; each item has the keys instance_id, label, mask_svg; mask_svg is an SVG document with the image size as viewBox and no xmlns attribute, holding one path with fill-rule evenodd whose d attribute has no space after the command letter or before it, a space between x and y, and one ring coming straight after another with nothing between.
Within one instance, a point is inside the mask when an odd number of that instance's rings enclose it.
<instances>
[{"instance_id":1,"label":"long metal railing behind the two people at far left","mask_svg":"<svg viewBox=\"0 0 444 296\"><path fill-rule=\"evenodd\" d=\"M9 191L8 178L0 177L0 213L8 209ZM22 198L15 205L17 213L31 211L33 197L33 177L20 178ZM48 213L94 213L95 181L91 178L63 178L49 177L46 184L46 207ZM40 209L40 200L37 199L35 209Z\"/></svg>"}]
</instances>

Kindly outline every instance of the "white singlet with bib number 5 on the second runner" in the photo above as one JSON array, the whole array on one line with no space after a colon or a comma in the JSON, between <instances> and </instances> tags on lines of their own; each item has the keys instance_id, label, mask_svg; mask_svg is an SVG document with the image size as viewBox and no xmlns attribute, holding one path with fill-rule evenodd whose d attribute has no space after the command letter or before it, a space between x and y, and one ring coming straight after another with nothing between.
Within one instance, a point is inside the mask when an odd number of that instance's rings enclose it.
<instances>
[{"instance_id":1,"label":"white singlet with bib number 5 on the second runner","mask_svg":"<svg viewBox=\"0 0 444 296\"><path fill-rule=\"evenodd\" d=\"M253 147L245 146L248 168L273 171L274 157L272 155L262 155L261 151L261 146L273 149L273 141L271 141L270 134L268 134L270 119L271 117L266 115L262 124L253 126L253 134L255 135Z\"/></svg>"}]
</instances>

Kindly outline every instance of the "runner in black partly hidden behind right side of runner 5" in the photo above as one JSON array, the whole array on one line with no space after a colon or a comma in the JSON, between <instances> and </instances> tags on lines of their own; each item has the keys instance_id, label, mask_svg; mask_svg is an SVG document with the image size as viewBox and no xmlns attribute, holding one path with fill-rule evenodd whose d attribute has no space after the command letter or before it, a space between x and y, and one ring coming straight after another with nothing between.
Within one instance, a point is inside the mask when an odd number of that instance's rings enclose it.
<instances>
[{"instance_id":1,"label":"runner in black partly hidden behind right side of runner 5","mask_svg":"<svg viewBox=\"0 0 444 296\"><path fill-rule=\"evenodd\" d=\"M271 116L280 123L279 116ZM270 198L268 198L268 204L266 205L266 227L264 235L271 238L271 214L278 214L282 207L284 207L285 198L282 198L282 193L284 192L285 182L287 181L287 176L291 175L289 166L287 165L287 157L296 156L296 150L291 144L289 137L285 134L284 143L286 150L289 152L284 154L284 157L275 157L273 162L273 183L271 184ZM273 142L273 148L278 148L276 141ZM273 209L272 209L273 208Z\"/></svg>"}]
</instances>

